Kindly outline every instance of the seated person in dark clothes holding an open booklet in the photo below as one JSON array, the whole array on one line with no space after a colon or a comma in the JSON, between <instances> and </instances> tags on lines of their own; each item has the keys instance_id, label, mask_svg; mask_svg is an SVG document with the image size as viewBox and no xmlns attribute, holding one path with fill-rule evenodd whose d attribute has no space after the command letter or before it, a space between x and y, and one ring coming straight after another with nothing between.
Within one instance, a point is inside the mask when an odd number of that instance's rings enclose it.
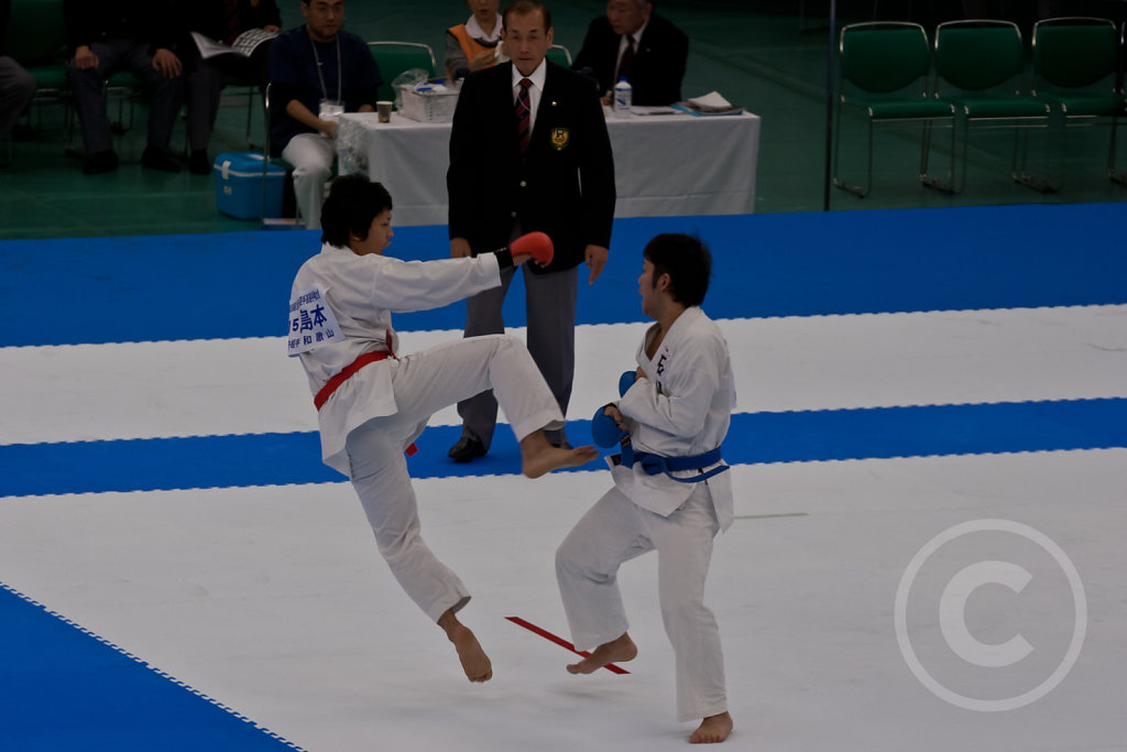
<instances>
[{"instance_id":1,"label":"seated person in dark clothes holding an open booklet","mask_svg":"<svg viewBox=\"0 0 1127 752\"><path fill-rule=\"evenodd\" d=\"M240 34L263 29L270 34L282 30L282 14L275 0L180 0L183 28L213 42L231 45ZM210 175L207 143L219 114L220 91L225 79L266 88L270 39L261 42L247 57L238 52L205 57L198 43L186 34L184 54L186 100L188 105L188 170L193 175Z\"/></svg>"}]
</instances>

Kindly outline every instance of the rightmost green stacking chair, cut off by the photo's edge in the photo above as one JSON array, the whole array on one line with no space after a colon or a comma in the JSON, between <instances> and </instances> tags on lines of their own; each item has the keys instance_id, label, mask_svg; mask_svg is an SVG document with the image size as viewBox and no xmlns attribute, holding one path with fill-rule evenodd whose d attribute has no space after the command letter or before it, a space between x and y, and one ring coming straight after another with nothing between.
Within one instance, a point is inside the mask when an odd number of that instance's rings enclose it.
<instances>
[{"instance_id":1,"label":"rightmost green stacking chair, cut off by the photo's edge","mask_svg":"<svg viewBox=\"0 0 1127 752\"><path fill-rule=\"evenodd\" d=\"M1033 95L1053 107L1058 131L1109 123L1108 177L1127 183L1116 171L1116 131L1125 114L1119 54L1120 32L1106 18L1050 18L1033 26Z\"/></svg>"}]
</instances>

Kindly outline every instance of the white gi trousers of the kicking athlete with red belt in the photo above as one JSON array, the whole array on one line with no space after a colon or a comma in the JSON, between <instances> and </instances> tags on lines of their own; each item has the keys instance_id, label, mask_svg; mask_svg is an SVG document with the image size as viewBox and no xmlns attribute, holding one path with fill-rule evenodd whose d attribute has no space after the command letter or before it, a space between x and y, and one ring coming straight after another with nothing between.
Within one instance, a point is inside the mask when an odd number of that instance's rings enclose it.
<instances>
[{"instance_id":1,"label":"white gi trousers of the kicking athlete with red belt","mask_svg":"<svg viewBox=\"0 0 1127 752\"><path fill-rule=\"evenodd\" d=\"M490 388L517 439L545 426L558 428L564 416L524 343L509 335L458 339L384 363L392 369L399 412L348 434L353 488L396 580L437 621L446 610L460 610L470 595L419 534L403 450L433 413Z\"/></svg>"}]
</instances>

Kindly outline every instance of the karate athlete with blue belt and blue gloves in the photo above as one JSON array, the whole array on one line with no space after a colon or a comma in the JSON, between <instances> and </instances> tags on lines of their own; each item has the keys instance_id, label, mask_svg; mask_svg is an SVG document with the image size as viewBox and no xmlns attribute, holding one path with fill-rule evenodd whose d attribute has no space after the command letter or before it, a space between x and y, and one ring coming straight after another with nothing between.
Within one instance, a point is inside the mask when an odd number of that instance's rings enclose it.
<instances>
[{"instance_id":1,"label":"karate athlete with blue belt and blue gloves","mask_svg":"<svg viewBox=\"0 0 1127 752\"><path fill-rule=\"evenodd\" d=\"M637 656L616 573L657 549L678 719L703 718L690 742L722 742L733 722L720 632L703 599L712 539L733 521L731 474L720 459L736 404L731 363L720 329L699 308L712 266L708 249L687 236L659 235L644 258L641 310L657 322L638 348L637 371L623 374L621 400L593 423L596 439L601 423L620 433L622 453L607 458L614 486L556 552L571 639L592 651L567 670L589 674Z\"/></svg>"}]
</instances>

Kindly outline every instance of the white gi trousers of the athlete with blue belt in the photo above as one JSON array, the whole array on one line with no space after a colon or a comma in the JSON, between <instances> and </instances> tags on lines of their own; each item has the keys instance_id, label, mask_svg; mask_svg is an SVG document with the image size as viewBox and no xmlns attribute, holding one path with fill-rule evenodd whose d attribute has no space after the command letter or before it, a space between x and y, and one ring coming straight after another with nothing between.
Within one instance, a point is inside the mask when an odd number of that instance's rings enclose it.
<instances>
[{"instance_id":1,"label":"white gi trousers of the athlete with blue belt","mask_svg":"<svg viewBox=\"0 0 1127 752\"><path fill-rule=\"evenodd\" d=\"M725 713L720 630L704 605L712 539L720 529L706 483L673 514L641 508L612 488L583 516L556 551L556 576L577 649L593 651L629 628L618 570L657 550L658 596L676 658L677 718Z\"/></svg>"}]
</instances>

